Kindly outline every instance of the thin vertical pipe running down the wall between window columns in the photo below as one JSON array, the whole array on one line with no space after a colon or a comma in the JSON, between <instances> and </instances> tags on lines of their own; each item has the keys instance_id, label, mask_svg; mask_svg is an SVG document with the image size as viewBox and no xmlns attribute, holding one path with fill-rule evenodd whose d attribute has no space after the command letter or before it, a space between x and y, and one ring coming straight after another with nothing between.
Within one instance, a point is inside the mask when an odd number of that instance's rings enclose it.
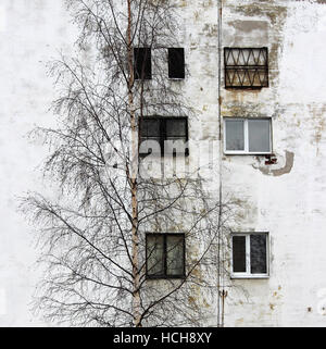
<instances>
[{"instance_id":1,"label":"thin vertical pipe running down the wall between window columns","mask_svg":"<svg viewBox=\"0 0 326 349\"><path fill-rule=\"evenodd\" d=\"M221 257L223 258L223 253L221 249L223 248L222 241L222 227L221 227L221 219L222 219L222 158L223 158L223 137L222 137L222 96L221 96L221 84L222 84L222 9L223 9L223 0L217 0L217 55L218 55L218 140L220 140L220 149L218 149L218 195L220 195L220 214L218 214L218 236L217 236L217 327L224 326L224 303L223 303L223 269L221 267ZM222 297L221 297L222 296Z\"/></svg>"}]
</instances>

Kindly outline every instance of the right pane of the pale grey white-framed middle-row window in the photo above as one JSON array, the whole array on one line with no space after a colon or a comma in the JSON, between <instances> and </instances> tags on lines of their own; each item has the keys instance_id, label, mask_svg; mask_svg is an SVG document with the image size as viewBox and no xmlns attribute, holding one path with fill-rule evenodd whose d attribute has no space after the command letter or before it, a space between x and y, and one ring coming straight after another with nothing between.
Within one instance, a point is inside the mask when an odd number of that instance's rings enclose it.
<instances>
[{"instance_id":1,"label":"right pane of the pale grey white-framed middle-row window","mask_svg":"<svg viewBox=\"0 0 326 349\"><path fill-rule=\"evenodd\" d=\"M249 120L249 151L252 152L269 152L269 120Z\"/></svg>"}]
</instances>

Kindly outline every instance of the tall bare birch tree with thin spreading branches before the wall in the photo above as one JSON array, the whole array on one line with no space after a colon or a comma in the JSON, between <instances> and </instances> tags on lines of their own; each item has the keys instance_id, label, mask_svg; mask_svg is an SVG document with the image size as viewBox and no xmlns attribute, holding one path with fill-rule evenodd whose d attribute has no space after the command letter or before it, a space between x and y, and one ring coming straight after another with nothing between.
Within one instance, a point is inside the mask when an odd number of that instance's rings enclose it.
<instances>
[{"instance_id":1,"label":"tall bare birch tree with thin spreading branches before the wall","mask_svg":"<svg viewBox=\"0 0 326 349\"><path fill-rule=\"evenodd\" d=\"M227 273L216 248L228 244L221 232L230 205L200 176L167 177L161 154L139 154L145 116L192 112L164 71L166 50L178 47L173 1L67 2L80 54L52 66L59 127L34 133L51 147L45 174L60 195L23 202L47 265L36 308L73 325L200 325L203 289L214 299L216 265ZM135 48L154 52L150 80L145 66L135 71ZM139 174L149 158L162 176Z\"/></svg>"}]
</instances>

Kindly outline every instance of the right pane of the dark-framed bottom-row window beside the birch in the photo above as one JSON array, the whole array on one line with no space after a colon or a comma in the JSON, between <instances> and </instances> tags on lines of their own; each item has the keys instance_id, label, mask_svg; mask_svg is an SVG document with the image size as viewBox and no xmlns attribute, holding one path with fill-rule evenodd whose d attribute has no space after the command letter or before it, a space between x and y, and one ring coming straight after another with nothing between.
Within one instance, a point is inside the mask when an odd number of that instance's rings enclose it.
<instances>
[{"instance_id":1,"label":"right pane of the dark-framed bottom-row window beside the birch","mask_svg":"<svg viewBox=\"0 0 326 349\"><path fill-rule=\"evenodd\" d=\"M166 274L184 275L185 236L166 236Z\"/></svg>"}]
</instances>

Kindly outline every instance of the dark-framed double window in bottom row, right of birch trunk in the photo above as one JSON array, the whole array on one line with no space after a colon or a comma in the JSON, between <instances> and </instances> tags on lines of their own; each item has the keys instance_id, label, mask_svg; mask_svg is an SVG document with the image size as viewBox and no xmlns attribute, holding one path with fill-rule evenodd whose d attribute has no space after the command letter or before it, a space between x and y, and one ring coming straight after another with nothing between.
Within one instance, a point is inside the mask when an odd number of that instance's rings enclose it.
<instances>
[{"instance_id":1,"label":"dark-framed double window in bottom row, right of birch trunk","mask_svg":"<svg viewBox=\"0 0 326 349\"><path fill-rule=\"evenodd\" d=\"M147 234L147 277L185 277L185 234Z\"/></svg>"}]
</instances>

